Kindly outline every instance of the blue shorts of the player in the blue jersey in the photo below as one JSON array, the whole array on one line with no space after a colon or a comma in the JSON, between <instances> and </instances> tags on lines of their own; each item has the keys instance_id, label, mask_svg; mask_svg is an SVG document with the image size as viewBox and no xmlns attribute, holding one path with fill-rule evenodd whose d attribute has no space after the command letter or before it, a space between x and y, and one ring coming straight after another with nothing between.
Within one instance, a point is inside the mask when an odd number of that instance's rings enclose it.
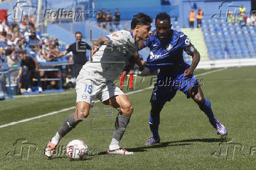
<instances>
[{"instance_id":1,"label":"blue shorts of the player in the blue jersey","mask_svg":"<svg viewBox=\"0 0 256 170\"><path fill-rule=\"evenodd\" d=\"M164 76L159 73L157 75L157 82L154 84L153 93L150 98L151 103L165 104L166 101L171 101L177 92L182 91L187 95L188 89L192 86L199 86L196 77L183 77L184 71L188 69L190 65L185 64L183 68L178 70L172 76Z\"/></svg>"}]
</instances>

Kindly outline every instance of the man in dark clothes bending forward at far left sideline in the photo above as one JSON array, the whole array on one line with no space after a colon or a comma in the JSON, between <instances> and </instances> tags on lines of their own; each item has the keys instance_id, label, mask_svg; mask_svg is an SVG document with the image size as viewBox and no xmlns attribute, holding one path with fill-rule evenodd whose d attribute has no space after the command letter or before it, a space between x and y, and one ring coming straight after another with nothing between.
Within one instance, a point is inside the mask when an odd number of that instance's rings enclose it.
<instances>
[{"instance_id":1,"label":"man in dark clothes bending forward at far left sideline","mask_svg":"<svg viewBox=\"0 0 256 170\"><path fill-rule=\"evenodd\" d=\"M25 52L19 53L19 57L21 58L21 67L19 69L19 75L16 77L16 80L19 79L19 77L22 74L22 66L28 67L28 73L26 74L26 79L23 80L25 82L22 82L23 84L26 84L25 87L28 87L28 90L26 92L31 92L31 87L32 87L32 78L38 79L38 86L39 86L39 93L42 92L42 83L41 79L39 77L39 72L38 72L38 62L36 62L36 59L33 59L32 57L29 57L26 55Z\"/></svg>"}]
</instances>

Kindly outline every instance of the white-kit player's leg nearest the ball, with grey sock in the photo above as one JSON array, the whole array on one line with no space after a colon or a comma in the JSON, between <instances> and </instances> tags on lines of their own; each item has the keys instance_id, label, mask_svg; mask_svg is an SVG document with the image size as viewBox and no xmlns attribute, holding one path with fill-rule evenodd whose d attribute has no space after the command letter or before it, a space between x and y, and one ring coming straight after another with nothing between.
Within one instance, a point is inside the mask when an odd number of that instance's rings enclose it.
<instances>
[{"instance_id":1,"label":"white-kit player's leg nearest the ball, with grey sock","mask_svg":"<svg viewBox=\"0 0 256 170\"><path fill-rule=\"evenodd\" d=\"M70 114L68 118L60 126L55 136L48 142L45 147L45 155L51 158L55 152L55 148L58 145L61 138L63 138L69 131L78 125L80 121L85 119L89 115L90 104L86 102L76 103L76 110L73 114Z\"/></svg>"}]
</instances>

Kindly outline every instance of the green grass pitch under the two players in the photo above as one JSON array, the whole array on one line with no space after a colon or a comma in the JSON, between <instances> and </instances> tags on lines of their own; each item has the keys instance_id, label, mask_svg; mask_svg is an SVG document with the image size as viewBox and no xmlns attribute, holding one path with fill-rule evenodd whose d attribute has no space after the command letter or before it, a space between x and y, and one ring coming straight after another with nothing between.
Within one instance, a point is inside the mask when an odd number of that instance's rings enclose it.
<instances>
[{"instance_id":1,"label":"green grass pitch under the two players","mask_svg":"<svg viewBox=\"0 0 256 170\"><path fill-rule=\"evenodd\" d=\"M196 70L195 74L210 71ZM113 129L117 111L113 110L111 118L106 113L110 110L105 109L109 106L95 103L93 107L99 108L100 114L91 110L89 117L60 141L53 159L43 155L43 148L74 109L0 128L0 169L255 169L255 72L256 67L234 67L197 76L203 80L204 96L211 101L215 117L227 128L226 139L217 135L197 104L179 91L161 111L161 143L145 147L151 135L152 89L147 89L128 96L134 112L120 145L134 155L106 155L112 131L96 130ZM143 81L138 77L136 90L149 87L151 77ZM0 126L73 107L75 100L75 90L67 90L0 101ZM90 148L82 161L70 161L61 151L61 146L75 139Z\"/></svg>"}]
</instances>

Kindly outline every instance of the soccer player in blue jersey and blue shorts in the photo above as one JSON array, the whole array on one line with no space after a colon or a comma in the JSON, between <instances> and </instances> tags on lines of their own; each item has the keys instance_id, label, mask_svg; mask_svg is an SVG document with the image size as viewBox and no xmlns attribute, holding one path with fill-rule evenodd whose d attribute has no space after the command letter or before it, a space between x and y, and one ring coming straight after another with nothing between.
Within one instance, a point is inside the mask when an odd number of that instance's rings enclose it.
<instances>
[{"instance_id":1,"label":"soccer player in blue jersey and blue shorts","mask_svg":"<svg viewBox=\"0 0 256 170\"><path fill-rule=\"evenodd\" d=\"M150 56L147 58L147 67L160 69L157 82L151 95L151 111L149 115L150 130L153 135L145 145L160 142L159 123L160 111L166 101L170 101L177 92L183 91L187 98L192 98L207 117L211 125L221 136L227 135L227 130L211 110L211 103L204 98L203 91L194 77L194 69L200 61L200 54L191 44L190 39L183 32L171 29L170 16L166 12L160 12L156 16L156 30L146 41L139 43L139 49L150 48ZM183 50L193 60L191 65L183 60Z\"/></svg>"}]
</instances>

